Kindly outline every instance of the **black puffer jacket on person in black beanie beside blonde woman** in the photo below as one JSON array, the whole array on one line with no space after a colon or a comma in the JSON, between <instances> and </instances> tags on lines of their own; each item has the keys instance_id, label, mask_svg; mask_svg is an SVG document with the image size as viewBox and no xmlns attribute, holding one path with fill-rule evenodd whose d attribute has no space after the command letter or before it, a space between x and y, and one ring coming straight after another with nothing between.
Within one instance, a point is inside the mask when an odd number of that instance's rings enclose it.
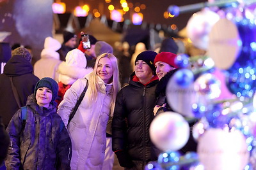
<instances>
[{"instance_id":1,"label":"black puffer jacket on person in black beanie beside blonde woman","mask_svg":"<svg viewBox=\"0 0 256 170\"><path fill-rule=\"evenodd\" d=\"M134 73L129 85L123 87L116 97L112 146L114 152L122 150L128 153L136 168L143 169L150 160L157 160L157 154L152 153L149 127L154 118L158 80L144 86L140 82L132 81L133 76Z\"/></svg>"}]
</instances>

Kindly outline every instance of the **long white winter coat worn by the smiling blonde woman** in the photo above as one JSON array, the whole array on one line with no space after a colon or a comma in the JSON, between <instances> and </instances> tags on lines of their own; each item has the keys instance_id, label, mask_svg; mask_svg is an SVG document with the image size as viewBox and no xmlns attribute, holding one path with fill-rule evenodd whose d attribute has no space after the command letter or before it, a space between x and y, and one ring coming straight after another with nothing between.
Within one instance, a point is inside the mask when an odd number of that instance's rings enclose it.
<instances>
[{"instance_id":1,"label":"long white winter coat worn by the smiling blonde woman","mask_svg":"<svg viewBox=\"0 0 256 170\"><path fill-rule=\"evenodd\" d=\"M100 92L97 101L88 103L85 94L82 103L68 125L68 133L72 141L71 169L102 169L106 149L106 126L110 114L110 103L113 85L107 85L99 77ZM77 99L83 92L87 80L78 79L65 93L60 103L58 114L67 126L68 117Z\"/></svg>"}]
</instances>

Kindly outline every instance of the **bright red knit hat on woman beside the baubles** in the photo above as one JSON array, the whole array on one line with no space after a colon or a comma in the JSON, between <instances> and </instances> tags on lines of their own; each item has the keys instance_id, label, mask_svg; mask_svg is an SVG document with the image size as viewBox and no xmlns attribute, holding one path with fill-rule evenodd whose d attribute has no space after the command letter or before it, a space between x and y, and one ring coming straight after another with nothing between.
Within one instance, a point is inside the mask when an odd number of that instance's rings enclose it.
<instances>
[{"instance_id":1,"label":"bright red knit hat on woman beside the baubles","mask_svg":"<svg viewBox=\"0 0 256 170\"><path fill-rule=\"evenodd\" d=\"M154 59L154 65L156 64L157 61L161 61L161 62L166 62L167 64L169 64L172 67L179 68L179 66L177 66L175 64L176 57L177 57L177 55L175 53L171 53L171 52L158 53L156 55L156 58Z\"/></svg>"}]
</instances>

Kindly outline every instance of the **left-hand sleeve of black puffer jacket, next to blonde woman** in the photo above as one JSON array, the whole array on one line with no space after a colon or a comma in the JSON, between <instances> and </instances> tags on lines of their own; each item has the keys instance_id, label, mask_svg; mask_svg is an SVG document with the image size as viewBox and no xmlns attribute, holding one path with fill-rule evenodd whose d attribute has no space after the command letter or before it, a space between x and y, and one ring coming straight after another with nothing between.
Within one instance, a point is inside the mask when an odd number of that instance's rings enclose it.
<instances>
[{"instance_id":1,"label":"left-hand sleeve of black puffer jacket, next to blonde woman","mask_svg":"<svg viewBox=\"0 0 256 170\"><path fill-rule=\"evenodd\" d=\"M123 99L122 90L116 96L115 111L112 120L112 150L125 150L125 137L127 131L127 124L125 122L125 103Z\"/></svg>"}]
</instances>

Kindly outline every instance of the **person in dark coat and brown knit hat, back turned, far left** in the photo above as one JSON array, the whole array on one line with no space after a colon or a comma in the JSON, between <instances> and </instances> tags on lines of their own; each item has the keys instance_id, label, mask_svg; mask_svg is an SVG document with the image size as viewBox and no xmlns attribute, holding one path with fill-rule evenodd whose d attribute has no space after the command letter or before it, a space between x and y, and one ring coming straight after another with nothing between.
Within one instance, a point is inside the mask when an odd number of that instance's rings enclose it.
<instances>
[{"instance_id":1,"label":"person in dark coat and brown knit hat, back turned, far left","mask_svg":"<svg viewBox=\"0 0 256 170\"><path fill-rule=\"evenodd\" d=\"M5 127L20 107L15 100L10 78L17 90L20 106L25 106L28 96L33 93L39 80L33 74L31 55L26 48L19 47L13 50L12 58L4 66L4 73L0 74L0 116Z\"/></svg>"}]
</instances>

